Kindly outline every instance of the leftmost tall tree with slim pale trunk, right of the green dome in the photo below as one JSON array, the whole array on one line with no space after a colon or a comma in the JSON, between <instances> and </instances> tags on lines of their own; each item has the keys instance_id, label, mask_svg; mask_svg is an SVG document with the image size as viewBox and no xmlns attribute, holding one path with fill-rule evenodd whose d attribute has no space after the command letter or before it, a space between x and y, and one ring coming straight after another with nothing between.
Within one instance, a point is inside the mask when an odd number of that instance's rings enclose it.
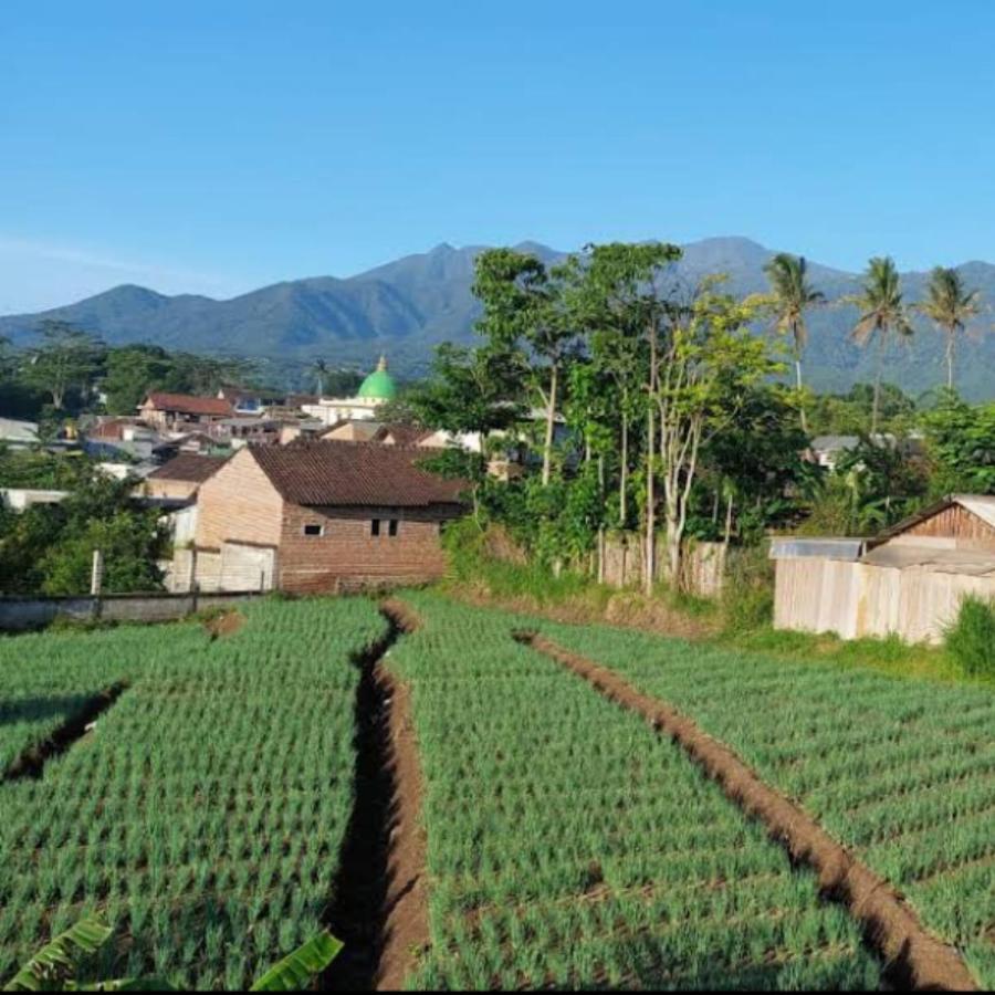
<instances>
[{"instance_id":1,"label":"leftmost tall tree with slim pale trunk, right of the green dome","mask_svg":"<svg viewBox=\"0 0 995 995\"><path fill-rule=\"evenodd\" d=\"M576 341L564 306L569 264L546 269L537 256L513 249L491 249L476 258L473 293L483 305L478 331L492 350L522 357L531 388L545 412L543 485L549 484L557 406L564 365Z\"/></svg>"}]
</instances>

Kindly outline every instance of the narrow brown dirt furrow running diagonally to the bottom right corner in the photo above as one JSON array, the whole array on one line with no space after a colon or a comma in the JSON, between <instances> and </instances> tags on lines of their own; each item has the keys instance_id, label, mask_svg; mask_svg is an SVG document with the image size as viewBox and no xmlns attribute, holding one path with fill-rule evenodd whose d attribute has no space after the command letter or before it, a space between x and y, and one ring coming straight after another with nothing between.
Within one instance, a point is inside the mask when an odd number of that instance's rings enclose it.
<instances>
[{"instance_id":1,"label":"narrow brown dirt furrow running diagonally to the bottom right corner","mask_svg":"<svg viewBox=\"0 0 995 995\"><path fill-rule=\"evenodd\" d=\"M642 715L658 732L682 746L733 802L764 821L795 860L808 863L818 872L824 894L846 904L863 925L869 942L889 965L897 986L921 992L978 991L960 953L929 933L887 880L849 853L802 808L762 782L732 750L614 671L544 636L523 632L515 638L567 667L606 698Z\"/></svg>"}]
</instances>

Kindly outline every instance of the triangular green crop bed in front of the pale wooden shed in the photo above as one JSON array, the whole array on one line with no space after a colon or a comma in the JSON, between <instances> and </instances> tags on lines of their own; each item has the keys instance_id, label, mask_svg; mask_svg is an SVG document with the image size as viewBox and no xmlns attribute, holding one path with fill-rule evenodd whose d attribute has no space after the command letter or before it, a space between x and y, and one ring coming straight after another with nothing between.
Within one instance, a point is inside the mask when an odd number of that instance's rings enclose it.
<instances>
[{"instance_id":1,"label":"triangular green crop bed in front of the pale wooden shed","mask_svg":"<svg viewBox=\"0 0 995 995\"><path fill-rule=\"evenodd\" d=\"M532 625L732 746L995 986L995 692Z\"/></svg>"}]
</instances>

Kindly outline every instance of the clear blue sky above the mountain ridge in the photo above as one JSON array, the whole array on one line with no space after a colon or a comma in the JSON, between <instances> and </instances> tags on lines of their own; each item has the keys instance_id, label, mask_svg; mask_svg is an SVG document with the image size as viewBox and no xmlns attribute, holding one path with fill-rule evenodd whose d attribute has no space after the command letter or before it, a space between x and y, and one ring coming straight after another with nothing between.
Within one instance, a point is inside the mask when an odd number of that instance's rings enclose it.
<instances>
[{"instance_id":1,"label":"clear blue sky above the mountain ridge","mask_svg":"<svg viewBox=\"0 0 995 995\"><path fill-rule=\"evenodd\" d=\"M4 0L0 313L440 241L995 261L993 43L988 0Z\"/></svg>"}]
</instances>

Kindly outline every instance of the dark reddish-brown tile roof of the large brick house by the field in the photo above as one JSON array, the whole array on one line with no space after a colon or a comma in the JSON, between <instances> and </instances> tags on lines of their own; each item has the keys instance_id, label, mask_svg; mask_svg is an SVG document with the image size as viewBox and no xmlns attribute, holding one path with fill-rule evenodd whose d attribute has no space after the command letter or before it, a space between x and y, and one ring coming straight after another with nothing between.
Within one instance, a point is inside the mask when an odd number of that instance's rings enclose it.
<instances>
[{"instance_id":1,"label":"dark reddish-brown tile roof of the large brick house by the field","mask_svg":"<svg viewBox=\"0 0 995 995\"><path fill-rule=\"evenodd\" d=\"M430 459L423 449L317 441L251 451L286 501L311 507L455 505L467 490L417 465Z\"/></svg>"}]
</instances>

